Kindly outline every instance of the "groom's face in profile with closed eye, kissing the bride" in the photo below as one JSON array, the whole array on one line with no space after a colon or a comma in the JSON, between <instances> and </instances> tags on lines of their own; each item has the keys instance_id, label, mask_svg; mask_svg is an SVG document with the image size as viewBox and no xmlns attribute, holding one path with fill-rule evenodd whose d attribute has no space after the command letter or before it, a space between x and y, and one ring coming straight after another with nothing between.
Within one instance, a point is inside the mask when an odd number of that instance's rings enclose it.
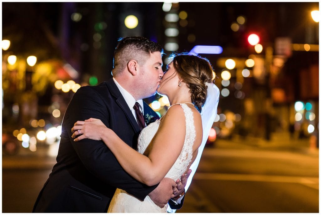
<instances>
[{"instance_id":1,"label":"groom's face in profile with closed eye, kissing the bride","mask_svg":"<svg viewBox=\"0 0 321 215\"><path fill-rule=\"evenodd\" d=\"M141 67L141 89L143 98L155 95L160 84L160 79L164 73L162 70L162 59L160 52L153 52L147 58L145 64Z\"/></svg>"}]
</instances>

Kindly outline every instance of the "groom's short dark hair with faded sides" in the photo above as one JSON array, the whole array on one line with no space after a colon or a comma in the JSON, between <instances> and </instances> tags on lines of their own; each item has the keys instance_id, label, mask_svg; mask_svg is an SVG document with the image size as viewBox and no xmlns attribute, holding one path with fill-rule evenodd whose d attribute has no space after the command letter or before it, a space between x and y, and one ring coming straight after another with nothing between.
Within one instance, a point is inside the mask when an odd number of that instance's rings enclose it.
<instances>
[{"instance_id":1,"label":"groom's short dark hair with faded sides","mask_svg":"<svg viewBox=\"0 0 321 215\"><path fill-rule=\"evenodd\" d=\"M163 54L164 50L159 44L144 37L120 37L114 52L113 76L120 74L131 60L144 65L153 52Z\"/></svg>"}]
</instances>

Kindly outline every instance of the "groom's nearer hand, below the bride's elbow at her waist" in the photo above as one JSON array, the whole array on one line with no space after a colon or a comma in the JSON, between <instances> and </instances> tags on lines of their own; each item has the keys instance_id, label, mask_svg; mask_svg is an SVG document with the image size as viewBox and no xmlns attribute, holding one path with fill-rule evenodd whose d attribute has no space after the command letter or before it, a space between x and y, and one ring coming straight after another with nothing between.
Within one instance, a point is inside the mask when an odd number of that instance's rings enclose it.
<instances>
[{"instance_id":1,"label":"groom's nearer hand, below the bride's elbow at her waist","mask_svg":"<svg viewBox=\"0 0 321 215\"><path fill-rule=\"evenodd\" d=\"M152 201L160 208L163 208L172 197L173 188L176 187L176 183L171 178L163 178L159 185L148 194Z\"/></svg>"}]
</instances>

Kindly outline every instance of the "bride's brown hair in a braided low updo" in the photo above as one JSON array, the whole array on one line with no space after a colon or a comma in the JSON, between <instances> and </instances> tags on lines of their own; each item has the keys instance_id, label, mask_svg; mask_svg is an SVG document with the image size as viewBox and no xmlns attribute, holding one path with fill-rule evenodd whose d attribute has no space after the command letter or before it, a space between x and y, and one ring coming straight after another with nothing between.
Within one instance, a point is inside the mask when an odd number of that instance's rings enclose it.
<instances>
[{"instance_id":1,"label":"bride's brown hair in a braided low updo","mask_svg":"<svg viewBox=\"0 0 321 215\"><path fill-rule=\"evenodd\" d=\"M174 54L171 57L174 57L173 66L178 76L190 89L192 103L201 112L207 95L205 83L213 83L211 63L206 58L189 53Z\"/></svg>"}]
</instances>

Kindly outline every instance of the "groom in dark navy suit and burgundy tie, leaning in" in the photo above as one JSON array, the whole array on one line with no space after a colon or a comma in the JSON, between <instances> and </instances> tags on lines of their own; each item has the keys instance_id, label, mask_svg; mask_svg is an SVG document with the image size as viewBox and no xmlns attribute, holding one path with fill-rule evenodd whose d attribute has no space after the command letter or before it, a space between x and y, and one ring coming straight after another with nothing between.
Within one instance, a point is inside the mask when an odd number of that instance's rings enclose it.
<instances>
[{"instance_id":1,"label":"groom in dark navy suit and burgundy tie, leaning in","mask_svg":"<svg viewBox=\"0 0 321 215\"><path fill-rule=\"evenodd\" d=\"M147 186L127 174L103 142L74 142L71 137L74 122L97 118L136 148L137 137L145 126L137 111L149 116L146 123L157 117L142 99L156 92L163 76L162 54L162 47L146 38L123 38L114 52L114 78L95 87L81 87L74 94L62 123L57 163L32 212L106 212L116 187L140 200L149 195L160 207L175 198L173 189L178 196L184 191L188 176L182 176L182 183L177 182L178 191L170 178ZM183 200L169 204L179 209Z\"/></svg>"}]
</instances>

